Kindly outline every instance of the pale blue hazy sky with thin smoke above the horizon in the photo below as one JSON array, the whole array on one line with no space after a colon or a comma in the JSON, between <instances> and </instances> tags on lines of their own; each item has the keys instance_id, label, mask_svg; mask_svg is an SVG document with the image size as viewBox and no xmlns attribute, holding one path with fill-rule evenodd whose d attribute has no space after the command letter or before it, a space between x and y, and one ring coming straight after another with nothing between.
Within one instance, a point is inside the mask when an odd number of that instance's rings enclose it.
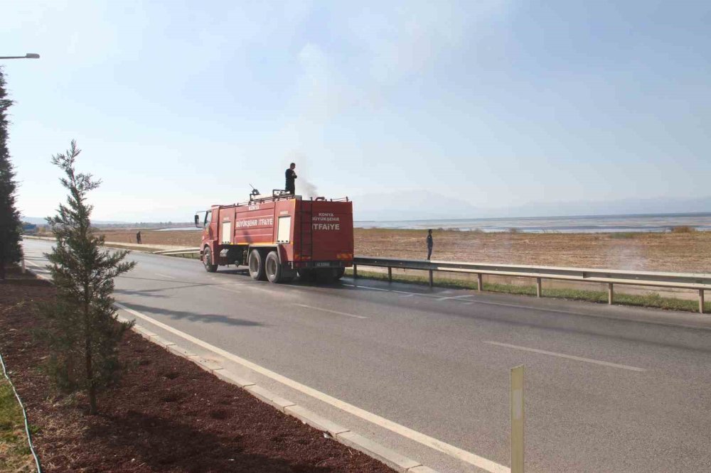
<instances>
[{"instance_id":1,"label":"pale blue hazy sky with thin smoke above the horizon","mask_svg":"<svg viewBox=\"0 0 711 473\"><path fill-rule=\"evenodd\" d=\"M19 205L53 212L72 138L104 220L188 221L289 161L328 197L710 195L710 24L705 0L9 0L0 55L42 55L4 62Z\"/></svg>"}]
</instances>

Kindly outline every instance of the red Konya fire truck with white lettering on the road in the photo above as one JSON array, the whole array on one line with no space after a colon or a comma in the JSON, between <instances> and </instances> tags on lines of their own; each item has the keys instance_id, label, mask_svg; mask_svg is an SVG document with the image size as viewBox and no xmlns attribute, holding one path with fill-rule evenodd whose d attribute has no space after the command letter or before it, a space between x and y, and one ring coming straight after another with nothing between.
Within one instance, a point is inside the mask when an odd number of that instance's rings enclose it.
<instances>
[{"instance_id":1,"label":"red Konya fire truck with white lettering on the road","mask_svg":"<svg viewBox=\"0 0 711 473\"><path fill-rule=\"evenodd\" d=\"M246 264L255 280L284 283L298 274L333 281L353 266L348 197L305 200L281 190L262 197L254 190L249 202L198 212L195 224L203 227L200 259L210 273Z\"/></svg>"}]
</instances>

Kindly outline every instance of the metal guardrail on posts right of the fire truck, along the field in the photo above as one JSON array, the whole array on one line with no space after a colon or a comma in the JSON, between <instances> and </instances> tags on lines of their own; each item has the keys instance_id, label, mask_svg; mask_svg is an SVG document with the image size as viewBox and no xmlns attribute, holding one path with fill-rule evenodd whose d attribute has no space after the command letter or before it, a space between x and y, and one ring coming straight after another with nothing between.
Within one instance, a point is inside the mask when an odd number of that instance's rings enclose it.
<instances>
[{"instance_id":1,"label":"metal guardrail on posts right of the fire truck, along the field","mask_svg":"<svg viewBox=\"0 0 711 473\"><path fill-rule=\"evenodd\" d=\"M557 268L555 266L520 266L513 264L464 263L458 261L422 261L412 259L371 258L357 256L353 259L353 277L358 277L358 266L387 268L387 278L392 281L392 268L415 269L429 272L429 286L434 285L434 271L470 273L477 276L477 288L483 286L482 276L513 276L535 278L536 295L541 296L541 281L557 279L606 283L608 303L614 301L614 285L651 286L697 290L699 312L704 312L704 290L711 290L711 274L659 273L655 271L624 271L617 269Z\"/></svg>"}]
</instances>

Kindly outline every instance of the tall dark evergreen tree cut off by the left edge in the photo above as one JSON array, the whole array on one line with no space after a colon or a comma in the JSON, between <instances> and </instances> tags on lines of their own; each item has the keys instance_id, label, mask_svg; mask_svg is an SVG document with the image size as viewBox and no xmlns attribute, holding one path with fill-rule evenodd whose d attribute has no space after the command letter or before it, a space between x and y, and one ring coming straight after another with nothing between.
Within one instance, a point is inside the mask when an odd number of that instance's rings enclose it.
<instances>
[{"instance_id":1,"label":"tall dark evergreen tree cut off by the left edge","mask_svg":"<svg viewBox=\"0 0 711 473\"><path fill-rule=\"evenodd\" d=\"M7 112L11 106L0 67L0 279L5 278L5 266L17 263L22 257L20 212L15 207L15 171L7 147Z\"/></svg>"}]
</instances>

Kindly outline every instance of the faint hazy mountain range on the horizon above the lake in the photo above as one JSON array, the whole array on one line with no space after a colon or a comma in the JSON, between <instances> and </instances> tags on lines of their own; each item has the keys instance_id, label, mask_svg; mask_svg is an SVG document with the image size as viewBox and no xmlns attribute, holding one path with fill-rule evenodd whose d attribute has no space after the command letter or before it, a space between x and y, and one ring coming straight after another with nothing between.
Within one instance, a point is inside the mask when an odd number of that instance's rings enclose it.
<instances>
[{"instance_id":1,"label":"faint hazy mountain range on the horizon above the lake","mask_svg":"<svg viewBox=\"0 0 711 473\"><path fill-rule=\"evenodd\" d=\"M711 212L711 196L695 199L624 199L602 202L531 202L513 207L478 207L430 191L353 197L358 221L567 217L578 215L677 214Z\"/></svg>"}]
</instances>

